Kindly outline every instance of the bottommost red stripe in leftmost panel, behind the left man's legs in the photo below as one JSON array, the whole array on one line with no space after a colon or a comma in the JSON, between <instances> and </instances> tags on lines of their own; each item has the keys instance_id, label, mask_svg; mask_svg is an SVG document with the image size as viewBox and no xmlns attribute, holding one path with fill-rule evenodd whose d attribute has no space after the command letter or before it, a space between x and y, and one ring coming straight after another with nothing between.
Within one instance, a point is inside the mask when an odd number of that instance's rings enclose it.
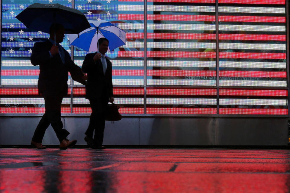
<instances>
[{"instance_id":1,"label":"bottommost red stripe in leftmost panel, behind the left man's legs","mask_svg":"<svg viewBox=\"0 0 290 193\"><path fill-rule=\"evenodd\" d=\"M45 108L44 107L27 107L27 108L23 108L23 107L13 107L13 108L1 108L1 113L34 113L34 114L38 114L38 113L44 113L45 112ZM69 107L62 107L61 108L61 113L70 113L70 108Z\"/></svg>"}]
</instances>

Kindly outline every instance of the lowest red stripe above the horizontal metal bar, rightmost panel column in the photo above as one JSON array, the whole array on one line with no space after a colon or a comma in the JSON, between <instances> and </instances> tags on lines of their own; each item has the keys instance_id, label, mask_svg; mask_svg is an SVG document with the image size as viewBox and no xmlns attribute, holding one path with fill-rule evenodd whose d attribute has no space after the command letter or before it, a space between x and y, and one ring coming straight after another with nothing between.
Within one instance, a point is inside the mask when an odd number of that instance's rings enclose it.
<instances>
[{"instance_id":1,"label":"lowest red stripe above the horizontal metal bar, rightmost panel column","mask_svg":"<svg viewBox=\"0 0 290 193\"><path fill-rule=\"evenodd\" d=\"M287 78L286 72L266 72L266 71L220 71L219 75L229 77Z\"/></svg>"}]
</instances>

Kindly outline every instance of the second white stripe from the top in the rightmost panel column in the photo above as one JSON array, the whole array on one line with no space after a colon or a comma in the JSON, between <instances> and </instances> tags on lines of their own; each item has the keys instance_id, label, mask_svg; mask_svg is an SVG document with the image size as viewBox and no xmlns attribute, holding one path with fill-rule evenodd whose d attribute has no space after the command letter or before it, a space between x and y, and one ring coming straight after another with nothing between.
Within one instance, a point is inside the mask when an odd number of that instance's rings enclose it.
<instances>
[{"instance_id":1,"label":"second white stripe from the top in the rightmost panel column","mask_svg":"<svg viewBox=\"0 0 290 193\"><path fill-rule=\"evenodd\" d=\"M221 31L286 31L285 26L273 25L219 25L218 29Z\"/></svg>"}]
</instances>

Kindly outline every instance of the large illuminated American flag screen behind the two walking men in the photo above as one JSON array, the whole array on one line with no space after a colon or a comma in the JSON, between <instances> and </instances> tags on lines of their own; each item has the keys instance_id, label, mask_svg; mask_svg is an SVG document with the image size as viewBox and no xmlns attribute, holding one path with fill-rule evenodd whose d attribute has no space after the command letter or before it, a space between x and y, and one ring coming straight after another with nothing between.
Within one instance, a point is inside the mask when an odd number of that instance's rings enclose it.
<instances>
[{"instance_id":1,"label":"large illuminated American flag screen behind the two walking men","mask_svg":"<svg viewBox=\"0 0 290 193\"><path fill-rule=\"evenodd\" d=\"M126 45L106 54L121 113L287 115L285 1L217 1L148 0L145 14L143 0L3 0L0 113L44 112L39 67L29 57L49 35L15 16L35 2L74 2L87 19L127 32ZM71 52L68 36L62 46ZM75 63L82 66L87 53L75 47ZM91 113L85 88L68 84L62 113Z\"/></svg>"}]
</instances>

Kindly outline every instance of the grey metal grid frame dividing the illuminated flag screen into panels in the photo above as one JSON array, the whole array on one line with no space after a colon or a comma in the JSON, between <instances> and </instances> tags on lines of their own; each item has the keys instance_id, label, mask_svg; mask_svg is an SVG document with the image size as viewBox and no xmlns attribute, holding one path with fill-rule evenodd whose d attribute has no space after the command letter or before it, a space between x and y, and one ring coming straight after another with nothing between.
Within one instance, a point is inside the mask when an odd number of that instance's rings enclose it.
<instances>
[{"instance_id":1,"label":"grey metal grid frame dividing the illuminated flag screen into panels","mask_svg":"<svg viewBox=\"0 0 290 193\"><path fill-rule=\"evenodd\" d=\"M72 7L74 8L74 0L72 1ZM287 37L287 87L239 87L239 86L219 86L219 49L218 49L218 0L215 2L216 6L216 71L217 71L217 82L216 86L182 86L182 85L147 85L147 0L144 1L144 84L143 85L114 85L114 87L135 87L135 88L144 88L144 114L123 114L124 117L280 117L280 118L289 118L290 117L290 77L289 77L289 2L288 0L285 0L285 6L286 6L286 37ZM2 2L1 2L1 10L0 10L0 23L2 24ZM0 34L1 34L1 28L0 28ZM0 43L1 46L1 43ZM74 58L74 47L71 46L71 58L73 60ZM0 71L1 71L1 55L0 55ZM1 81L1 76L0 76ZM1 83L1 82L0 82ZM0 88L37 88L37 85L0 85ZM83 87L83 85L73 85L73 80L71 78L71 113L69 114L62 114L62 116L82 116L82 117L88 117L90 114L76 114L72 113L72 106L73 106L73 88L75 87ZM220 88L229 88L229 89L287 89L288 90L288 115L220 115L220 114L213 114L213 115L180 115L180 114L146 114L146 90L148 88L154 88L154 87L170 87L170 88L216 88L217 89L217 110L219 110L219 89ZM1 100L1 97L0 97ZM42 116L43 114L26 114L26 113L8 113L8 114L0 114L1 116Z\"/></svg>"}]
</instances>

